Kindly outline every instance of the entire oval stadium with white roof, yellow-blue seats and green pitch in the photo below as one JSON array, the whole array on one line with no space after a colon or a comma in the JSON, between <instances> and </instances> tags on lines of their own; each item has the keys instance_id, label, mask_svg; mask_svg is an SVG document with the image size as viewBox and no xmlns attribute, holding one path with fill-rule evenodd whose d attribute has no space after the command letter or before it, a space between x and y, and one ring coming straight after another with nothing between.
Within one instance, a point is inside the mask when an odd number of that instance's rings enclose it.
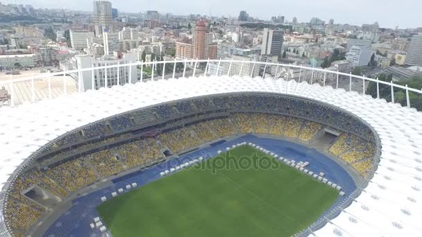
<instances>
[{"instance_id":1,"label":"entire oval stadium with white roof, yellow-blue seats and green pitch","mask_svg":"<svg viewBox=\"0 0 422 237\"><path fill-rule=\"evenodd\" d=\"M1 107L0 236L422 234L420 112L233 62Z\"/></svg>"}]
</instances>

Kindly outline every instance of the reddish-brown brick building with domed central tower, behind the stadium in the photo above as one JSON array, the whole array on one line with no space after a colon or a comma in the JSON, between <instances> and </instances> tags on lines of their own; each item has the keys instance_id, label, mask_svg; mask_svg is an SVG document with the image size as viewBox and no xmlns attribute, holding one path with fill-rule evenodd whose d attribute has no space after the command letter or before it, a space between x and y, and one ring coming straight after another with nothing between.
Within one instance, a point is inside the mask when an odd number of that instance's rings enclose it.
<instances>
[{"instance_id":1,"label":"reddish-brown brick building with domed central tower, behind the stadium","mask_svg":"<svg viewBox=\"0 0 422 237\"><path fill-rule=\"evenodd\" d=\"M208 33L205 21L198 21L192 42L188 40L176 42L176 58L179 59L216 59L217 44L212 42L212 33Z\"/></svg>"}]
</instances>

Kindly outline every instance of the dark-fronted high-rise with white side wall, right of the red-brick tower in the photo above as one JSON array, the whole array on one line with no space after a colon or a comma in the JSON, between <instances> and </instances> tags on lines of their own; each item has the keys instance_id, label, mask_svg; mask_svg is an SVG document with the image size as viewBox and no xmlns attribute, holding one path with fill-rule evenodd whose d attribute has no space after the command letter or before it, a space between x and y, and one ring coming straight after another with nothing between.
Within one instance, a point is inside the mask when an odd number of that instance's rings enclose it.
<instances>
[{"instance_id":1,"label":"dark-fronted high-rise with white side wall, right of the red-brick tower","mask_svg":"<svg viewBox=\"0 0 422 237\"><path fill-rule=\"evenodd\" d=\"M284 32L282 30L270 30L269 28L264 28L264 33L262 35L261 56L281 55L283 33Z\"/></svg>"}]
</instances>

